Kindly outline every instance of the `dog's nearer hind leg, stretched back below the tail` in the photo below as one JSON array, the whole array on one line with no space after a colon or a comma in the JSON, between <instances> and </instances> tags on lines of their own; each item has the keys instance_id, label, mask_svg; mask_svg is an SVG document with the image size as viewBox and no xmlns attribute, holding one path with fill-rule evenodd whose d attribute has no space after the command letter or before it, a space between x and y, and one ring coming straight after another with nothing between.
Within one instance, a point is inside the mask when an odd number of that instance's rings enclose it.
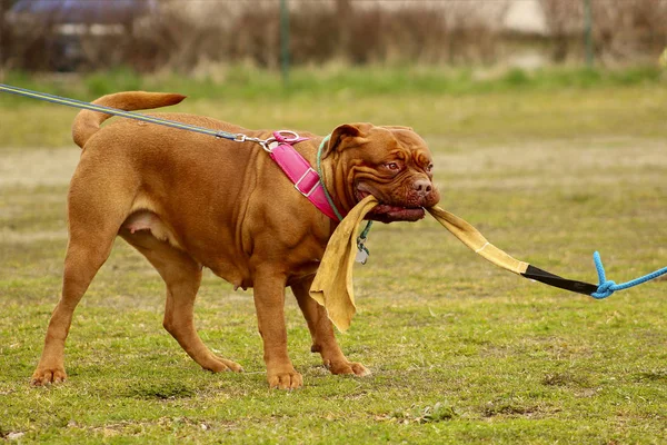
<instances>
[{"instance_id":1,"label":"dog's nearer hind leg, stretched back below the tail","mask_svg":"<svg viewBox=\"0 0 667 445\"><path fill-rule=\"evenodd\" d=\"M92 278L104 264L123 220L131 210L139 179L128 162L104 158L106 150L88 147L81 155L68 194L69 243L64 257L62 294L56 306L44 348L32 374L36 386L66 379L64 342L72 315Z\"/></svg>"}]
</instances>

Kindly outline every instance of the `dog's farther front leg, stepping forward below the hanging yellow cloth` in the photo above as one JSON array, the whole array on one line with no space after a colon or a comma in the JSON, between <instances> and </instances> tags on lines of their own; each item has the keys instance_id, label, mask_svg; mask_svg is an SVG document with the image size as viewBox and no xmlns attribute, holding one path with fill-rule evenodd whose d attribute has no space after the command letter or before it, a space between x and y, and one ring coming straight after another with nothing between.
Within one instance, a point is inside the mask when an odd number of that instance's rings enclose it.
<instances>
[{"instance_id":1,"label":"dog's farther front leg, stepping forward below the hanging yellow cloth","mask_svg":"<svg viewBox=\"0 0 667 445\"><path fill-rule=\"evenodd\" d=\"M303 317L308 323L310 336L312 337L312 347L310 350L320 353L325 366L331 374L369 375L370 372L364 365L348 360L342 350L340 350L340 346L338 346L334 334L334 325L327 316L327 310L309 295L313 278L306 278L291 286Z\"/></svg>"}]
</instances>

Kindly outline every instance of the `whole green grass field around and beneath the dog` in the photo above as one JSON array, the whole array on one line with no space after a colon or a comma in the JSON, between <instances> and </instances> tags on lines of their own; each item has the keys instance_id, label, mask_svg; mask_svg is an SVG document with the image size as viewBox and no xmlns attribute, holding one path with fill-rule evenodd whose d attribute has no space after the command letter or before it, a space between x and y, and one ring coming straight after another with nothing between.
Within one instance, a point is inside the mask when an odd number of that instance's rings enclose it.
<instances>
[{"instance_id":1,"label":"whole green grass field around and beneath the dog","mask_svg":"<svg viewBox=\"0 0 667 445\"><path fill-rule=\"evenodd\" d=\"M441 206L517 258L587 281L596 249L617 283L667 266L667 83L501 82L210 99L183 83L192 99L177 109L320 134L411 126L435 154ZM0 439L667 442L667 280L597 301L495 268L429 217L376 225L355 270L359 310L339 340L370 377L329 375L289 297L305 387L268 389L251 294L210 273L199 332L247 373L201 370L161 327L157 273L119 239L74 315L69 380L30 387L60 287L74 115L0 96Z\"/></svg>"}]
</instances>

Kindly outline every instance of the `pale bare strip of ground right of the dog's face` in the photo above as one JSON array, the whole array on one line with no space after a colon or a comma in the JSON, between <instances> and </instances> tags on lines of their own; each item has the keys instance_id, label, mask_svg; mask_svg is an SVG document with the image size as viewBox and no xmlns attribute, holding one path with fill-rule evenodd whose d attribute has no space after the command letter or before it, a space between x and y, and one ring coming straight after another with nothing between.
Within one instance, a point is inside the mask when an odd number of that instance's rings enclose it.
<instances>
[{"instance_id":1,"label":"pale bare strip of ground right of the dog's face","mask_svg":"<svg viewBox=\"0 0 667 445\"><path fill-rule=\"evenodd\" d=\"M436 151L436 177L459 188L530 189L581 188L614 185L623 171L626 180L641 184L664 176L667 145L656 139L550 140L535 145ZM584 188L585 189L585 188Z\"/></svg>"}]
</instances>

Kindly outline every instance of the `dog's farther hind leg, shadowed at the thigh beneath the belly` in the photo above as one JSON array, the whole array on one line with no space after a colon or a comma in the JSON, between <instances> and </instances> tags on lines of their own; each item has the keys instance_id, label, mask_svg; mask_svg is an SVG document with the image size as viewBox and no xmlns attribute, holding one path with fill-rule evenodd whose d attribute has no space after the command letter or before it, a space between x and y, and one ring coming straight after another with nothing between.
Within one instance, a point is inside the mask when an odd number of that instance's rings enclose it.
<instances>
[{"instance_id":1,"label":"dog's farther hind leg, shadowed at the thigh beneath the belly","mask_svg":"<svg viewBox=\"0 0 667 445\"><path fill-rule=\"evenodd\" d=\"M120 236L150 261L167 285L165 329L202 368L215 373L242 372L239 364L211 353L195 329L193 308L201 284L201 265L168 241L157 239L148 230L132 234L123 228Z\"/></svg>"}]
</instances>

